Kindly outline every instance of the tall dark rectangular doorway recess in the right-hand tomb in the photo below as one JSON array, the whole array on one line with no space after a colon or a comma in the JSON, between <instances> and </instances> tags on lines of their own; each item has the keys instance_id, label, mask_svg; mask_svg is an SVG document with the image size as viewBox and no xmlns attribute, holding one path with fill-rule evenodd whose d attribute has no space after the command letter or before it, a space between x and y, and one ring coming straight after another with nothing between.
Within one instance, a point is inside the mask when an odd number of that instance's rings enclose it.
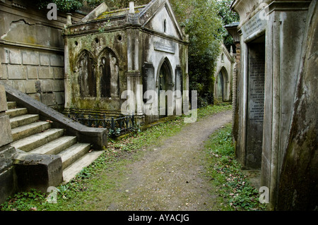
<instances>
[{"instance_id":1,"label":"tall dark rectangular doorway recess in the right-hand tomb","mask_svg":"<svg viewBox=\"0 0 318 225\"><path fill-rule=\"evenodd\" d=\"M265 35L247 44L246 166L261 169L264 123Z\"/></svg>"}]
</instances>

